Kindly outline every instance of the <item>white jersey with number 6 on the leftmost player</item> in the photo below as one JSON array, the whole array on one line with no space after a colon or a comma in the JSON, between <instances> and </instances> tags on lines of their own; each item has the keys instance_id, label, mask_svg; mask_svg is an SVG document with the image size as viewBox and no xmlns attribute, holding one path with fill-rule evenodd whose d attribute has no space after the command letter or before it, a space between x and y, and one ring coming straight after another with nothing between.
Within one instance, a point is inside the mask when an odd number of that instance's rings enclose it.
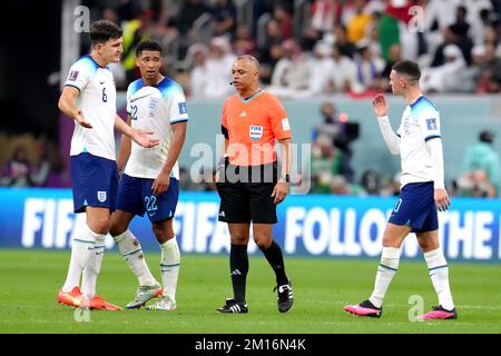
<instances>
[{"instance_id":1,"label":"white jersey with number 6 on the leftmost player","mask_svg":"<svg viewBox=\"0 0 501 356\"><path fill-rule=\"evenodd\" d=\"M65 86L77 88L77 108L92 125L87 129L75 121L70 156L89 152L116 160L115 116L117 93L114 77L108 67L102 68L90 56L78 59L70 69Z\"/></svg>"}]
</instances>

